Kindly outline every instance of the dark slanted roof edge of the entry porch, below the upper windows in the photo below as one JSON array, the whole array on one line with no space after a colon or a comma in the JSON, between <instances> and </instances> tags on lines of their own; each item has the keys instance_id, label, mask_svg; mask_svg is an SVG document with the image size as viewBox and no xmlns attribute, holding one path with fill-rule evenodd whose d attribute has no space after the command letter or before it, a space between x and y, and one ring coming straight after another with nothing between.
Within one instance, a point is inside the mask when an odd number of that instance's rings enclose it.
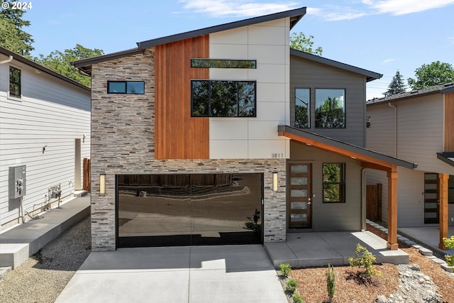
<instances>
[{"instance_id":1,"label":"dark slanted roof edge of the entry porch, below the upper windows","mask_svg":"<svg viewBox=\"0 0 454 303\"><path fill-rule=\"evenodd\" d=\"M361 146L358 146L358 145L353 145L350 143L339 141L337 139L329 138L326 136L321 136L318 133L312 133L310 131L305 131L303 129L294 128L292 126L279 125L279 126L277 126L277 132L278 133L281 133L281 132L282 133L283 132L292 133L294 135L308 138L308 139L311 139L314 141L319 141L321 143L325 143L325 144L331 145L336 148L342 148L344 150L348 150L353 153L359 153L361 155L366 155L368 157L375 158L377 160L382 160L384 162L389 162L391 164L394 164L394 165L397 165L400 167L405 167L405 168L408 168L409 170L414 170L416 167L418 167L418 165L415 163L407 162L405 160L400 160L400 159L391 157L389 155L384 155L382 153L377 153L373 150L368 150L367 148L362 148Z\"/></svg>"}]
</instances>

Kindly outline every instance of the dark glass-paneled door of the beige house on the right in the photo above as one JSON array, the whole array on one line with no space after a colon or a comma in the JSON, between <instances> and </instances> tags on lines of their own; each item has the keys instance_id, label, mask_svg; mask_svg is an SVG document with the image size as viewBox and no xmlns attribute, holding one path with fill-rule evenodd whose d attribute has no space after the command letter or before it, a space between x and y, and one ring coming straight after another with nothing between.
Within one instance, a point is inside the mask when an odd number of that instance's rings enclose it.
<instances>
[{"instance_id":1,"label":"dark glass-paneled door of the beige house on the right","mask_svg":"<svg viewBox=\"0 0 454 303\"><path fill-rule=\"evenodd\" d=\"M438 174L424 174L424 224L439 223Z\"/></svg>"}]
</instances>

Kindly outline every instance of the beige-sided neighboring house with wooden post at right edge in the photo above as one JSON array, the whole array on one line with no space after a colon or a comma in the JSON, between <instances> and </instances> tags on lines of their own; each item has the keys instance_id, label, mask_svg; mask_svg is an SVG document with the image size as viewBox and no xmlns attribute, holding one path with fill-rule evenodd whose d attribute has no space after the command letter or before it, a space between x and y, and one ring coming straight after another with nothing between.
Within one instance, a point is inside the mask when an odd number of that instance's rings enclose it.
<instances>
[{"instance_id":1,"label":"beige-sided neighboring house with wooden post at right edge","mask_svg":"<svg viewBox=\"0 0 454 303\"><path fill-rule=\"evenodd\" d=\"M367 148L418 164L415 170L399 167L398 226L440 224L441 239L448 236L454 225L454 83L372 99L367 116ZM384 179L367 172L367 184L383 184L386 196ZM388 221L387 213L379 219Z\"/></svg>"}]
</instances>

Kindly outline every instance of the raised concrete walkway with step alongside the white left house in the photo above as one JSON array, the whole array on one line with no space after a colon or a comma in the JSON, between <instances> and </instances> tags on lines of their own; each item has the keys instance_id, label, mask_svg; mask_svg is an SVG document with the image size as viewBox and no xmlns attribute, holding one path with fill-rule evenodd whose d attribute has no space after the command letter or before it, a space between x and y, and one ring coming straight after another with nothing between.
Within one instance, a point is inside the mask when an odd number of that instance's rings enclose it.
<instances>
[{"instance_id":1,"label":"raised concrete walkway with step alongside the white left house","mask_svg":"<svg viewBox=\"0 0 454 303\"><path fill-rule=\"evenodd\" d=\"M77 197L61 208L0 233L0 268L16 268L70 226L90 214L90 195Z\"/></svg>"}]
</instances>

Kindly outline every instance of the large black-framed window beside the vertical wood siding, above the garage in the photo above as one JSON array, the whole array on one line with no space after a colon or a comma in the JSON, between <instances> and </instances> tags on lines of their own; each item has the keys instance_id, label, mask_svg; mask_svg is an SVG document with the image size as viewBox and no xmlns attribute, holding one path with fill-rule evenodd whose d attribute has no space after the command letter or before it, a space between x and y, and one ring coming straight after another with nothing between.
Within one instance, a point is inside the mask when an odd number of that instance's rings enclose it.
<instances>
[{"instance_id":1,"label":"large black-framed window beside the vertical wood siding, above the garage","mask_svg":"<svg viewBox=\"0 0 454 303\"><path fill-rule=\"evenodd\" d=\"M255 81L191 80L196 117L255 117Z\"/></svg>"}]
</instances>

